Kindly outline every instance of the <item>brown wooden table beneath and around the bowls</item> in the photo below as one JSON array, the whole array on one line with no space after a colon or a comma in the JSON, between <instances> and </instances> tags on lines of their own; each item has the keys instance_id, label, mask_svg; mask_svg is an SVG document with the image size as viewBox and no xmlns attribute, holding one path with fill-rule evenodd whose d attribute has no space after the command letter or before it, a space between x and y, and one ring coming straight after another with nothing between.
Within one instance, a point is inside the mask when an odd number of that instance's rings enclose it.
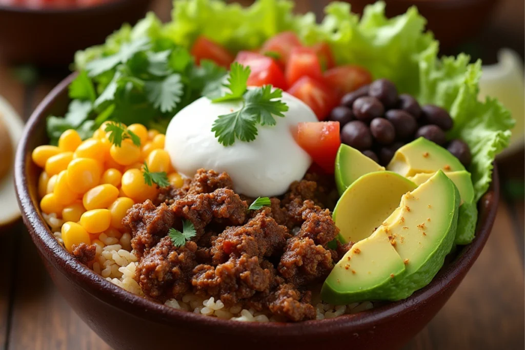
<instances>
[{"instance_id":1,"label":"brown wooden table beneath and around the bowls","mask_svg":"<svg viewBox=\"0 0 525 350\"><path fill-rule=\"evenodd\" d=\"M522 0L507 3L520 6L520 1L522 5ZM312 7L307 1L298 3L301 12L320 8L317 3ZM156 4L163 19L169 16L168 7L167 0ZM25 85L9 67L0 64L0 95L27 119L66 74L45 72L36 82ZM511 170L522 172L523 166L519 166ZM481 256L443 310L406 350L525 347L524 210L523 198L501 199ZM109 349L62 299L20 222L0 232L0 266L0 349Z\"/></svg>"}]
</instances>

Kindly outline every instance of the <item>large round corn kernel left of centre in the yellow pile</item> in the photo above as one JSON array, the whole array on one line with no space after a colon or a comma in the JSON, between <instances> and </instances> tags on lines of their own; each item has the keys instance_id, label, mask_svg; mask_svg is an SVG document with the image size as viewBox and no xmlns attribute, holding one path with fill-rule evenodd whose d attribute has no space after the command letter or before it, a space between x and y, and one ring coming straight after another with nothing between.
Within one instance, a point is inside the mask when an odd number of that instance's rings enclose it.
<instances>
[{"instance_id":1,"label":"large round corn kernel left of centre in the yellow pile","mask_svg":"<svg viewBox=\"0 0 525 350\"><path fill-rule=\"evenodd\" d=\"M85 193L100 182L100 167L91 158L76 158L67 167L69 187L77 193Z\"/></svg>"}]
</instances>

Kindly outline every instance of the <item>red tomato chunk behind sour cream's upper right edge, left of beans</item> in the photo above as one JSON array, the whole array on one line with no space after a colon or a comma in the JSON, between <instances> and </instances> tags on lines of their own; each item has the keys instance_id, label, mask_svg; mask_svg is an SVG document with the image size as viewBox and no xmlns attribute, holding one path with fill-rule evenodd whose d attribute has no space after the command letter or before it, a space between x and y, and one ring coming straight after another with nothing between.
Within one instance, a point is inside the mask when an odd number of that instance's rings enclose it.
<instances>
[{"instance_id":1,"label":"red tomato chunk behind sour cream's upper right edge, left of beans","mask_svg":"<svg viewBox=\"0 0 525 350\"><path fill-rule=\"evenodd\" d=\"M324 83L310 77L302 77L288 92L308 104L319 120L327 118L337 105L337 97Z\"/></svg>"}]
</instances>

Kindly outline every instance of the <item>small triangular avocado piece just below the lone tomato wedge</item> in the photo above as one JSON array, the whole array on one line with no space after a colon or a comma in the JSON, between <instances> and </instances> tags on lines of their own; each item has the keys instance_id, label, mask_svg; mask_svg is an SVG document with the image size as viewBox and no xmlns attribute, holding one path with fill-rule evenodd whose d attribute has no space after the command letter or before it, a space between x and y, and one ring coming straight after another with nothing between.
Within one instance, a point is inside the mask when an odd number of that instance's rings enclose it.
<instances>
[{"instance_id":1,"label":"small triangular avocado piece just below the lone tomato wedge","mask_svg":"<svg viewBox=\"0 0 525 350\"><path fill-rule=\"evenodd\" d=\"M362 175L384 169L360 151L342 144L335 157L335 184L339 195Z\"/></svg>"}]
</instances>

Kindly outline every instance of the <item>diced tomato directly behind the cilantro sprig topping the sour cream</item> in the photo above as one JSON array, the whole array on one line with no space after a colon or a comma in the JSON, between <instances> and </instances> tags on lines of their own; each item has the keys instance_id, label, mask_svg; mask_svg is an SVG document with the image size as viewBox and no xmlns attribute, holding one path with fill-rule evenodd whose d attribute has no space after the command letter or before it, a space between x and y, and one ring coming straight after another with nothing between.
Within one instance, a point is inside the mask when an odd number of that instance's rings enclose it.
<instances>
[{"instance_id":1,"label":"diced tomato directly behind the cilantro sprig topping the sour cream","mask_svg":"<svg viewBox=\"0 0 525 350\"><path fill-rule=\"evenodd\" d=\"M263 86L266 84L273 85L276 88L286 90L288 84L281 69L274 59L256 54L250 51L240 51L235 58L243 66L249 66L251 69L248 78L249 86Z\"/></svg>"}]
</instances>

